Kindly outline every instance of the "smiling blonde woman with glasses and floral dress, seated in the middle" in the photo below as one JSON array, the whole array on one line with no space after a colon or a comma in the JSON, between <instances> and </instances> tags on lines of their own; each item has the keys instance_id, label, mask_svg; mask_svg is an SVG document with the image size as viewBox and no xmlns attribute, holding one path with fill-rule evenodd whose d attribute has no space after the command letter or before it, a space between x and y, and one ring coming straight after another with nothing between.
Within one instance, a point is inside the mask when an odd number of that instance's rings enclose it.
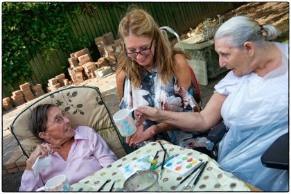
<instances>
[{"instance_id":1,"label":"smiling blonde woman with glasses and floral dress, seated in the middle","mask_svg":"<svg viewBox=\"0 0 291 194\"><path fill-rule=\"evenodd\" d=\"M121 109L149 105L172 112L200 111L200 96L191 77L188 56L170 48L148 12L140 8L127 12L119 24L118 35L124 42L116 73ZM142 142L156 139L186 147L204 146L194 140L200 138L198 132L145 121L138 112L134 112L134 118L138 131L127 137L130 146L140 147Z\"/></svg>"}]
</instances>

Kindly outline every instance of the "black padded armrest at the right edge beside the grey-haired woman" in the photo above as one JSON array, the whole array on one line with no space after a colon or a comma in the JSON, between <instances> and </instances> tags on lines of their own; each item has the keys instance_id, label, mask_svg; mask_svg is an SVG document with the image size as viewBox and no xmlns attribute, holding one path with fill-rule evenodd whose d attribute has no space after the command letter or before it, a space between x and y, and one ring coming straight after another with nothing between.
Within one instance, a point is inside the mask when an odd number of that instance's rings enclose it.
<instances>
[{"instance_id":1,"label":"black padded armrest at the right edge beside the grey-haired woman","mask_svg":"<svg viewBox=\"0 0 291 194\"><path fill-rule=\"evenodd\" d=\"M261 157L263 166L268 168L289 168L289 133L280 136Z\"/></svg>"}]
</instances>

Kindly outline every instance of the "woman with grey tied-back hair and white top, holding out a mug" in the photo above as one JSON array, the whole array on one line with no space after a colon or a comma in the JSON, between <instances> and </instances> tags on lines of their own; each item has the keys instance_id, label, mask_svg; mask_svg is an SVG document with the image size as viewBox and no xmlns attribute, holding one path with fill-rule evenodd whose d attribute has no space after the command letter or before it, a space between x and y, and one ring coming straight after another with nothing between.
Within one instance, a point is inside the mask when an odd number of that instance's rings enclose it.
<instances>
[{"instance_id":1,"label":"woman with grey tied-back hair and white top, holding out a mug","mask_svg":"<svg viewBox=\"0 0 291 194\"><path fill-rule=\"evenodd\" d=\"M272 25L236 16L215 33L220 67L231 70L202 112L167 112L139 107L144 118L202 132L221 119L228 132L218 163L263 191L288 191L288 170L267 168L261 155L288 132L288 44L270 42L281 32Z\"/></svg>"}]
</instances>

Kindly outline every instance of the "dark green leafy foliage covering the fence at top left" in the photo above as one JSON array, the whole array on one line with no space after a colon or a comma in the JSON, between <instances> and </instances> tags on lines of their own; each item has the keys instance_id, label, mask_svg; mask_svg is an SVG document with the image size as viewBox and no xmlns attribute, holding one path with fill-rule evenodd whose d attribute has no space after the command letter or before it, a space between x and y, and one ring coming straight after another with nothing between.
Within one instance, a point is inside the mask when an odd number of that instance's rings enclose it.
<instances>
[{"instance_id":1,"label":"dark green leafy foliage covering the fence at top left","mask_svg":"<svg viewBox=\"0 0 291 194\"><path fill-rule=\"evenodd\" d=\"M2 83L15 86L32 75L28 68L37 53L48 59L53 51L69 51L67 39L73 37L67 12L80 14L94 4L65 2L2 3ZM78 42L83 37L78 37ZM88 44L82 41L80 44ZM78 48L74 48L78 49Z\"/></svg>"}]
</instances>

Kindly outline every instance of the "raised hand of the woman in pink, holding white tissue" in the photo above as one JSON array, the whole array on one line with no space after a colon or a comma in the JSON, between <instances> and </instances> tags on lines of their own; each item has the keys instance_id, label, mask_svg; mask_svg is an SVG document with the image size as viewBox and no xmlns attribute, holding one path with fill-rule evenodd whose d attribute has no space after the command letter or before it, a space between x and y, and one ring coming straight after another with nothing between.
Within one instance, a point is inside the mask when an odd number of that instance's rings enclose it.
<instances>
[{"instance_id":1,"label":"raised hand of the woman in pink, holding white tissue","mask_svg":"<svg viewBox=\"0 0 291 194\"><path fill-rule=\"evenodd\" d=\"M48 143L42 143L40 145L37 145L33 153L31 153L30 157L26 161L26 170L33 170L33 164L35 164L35 160L37 157L45 157L49 153L52 152L51 145Z\"/></svg>"}]
</instances>

